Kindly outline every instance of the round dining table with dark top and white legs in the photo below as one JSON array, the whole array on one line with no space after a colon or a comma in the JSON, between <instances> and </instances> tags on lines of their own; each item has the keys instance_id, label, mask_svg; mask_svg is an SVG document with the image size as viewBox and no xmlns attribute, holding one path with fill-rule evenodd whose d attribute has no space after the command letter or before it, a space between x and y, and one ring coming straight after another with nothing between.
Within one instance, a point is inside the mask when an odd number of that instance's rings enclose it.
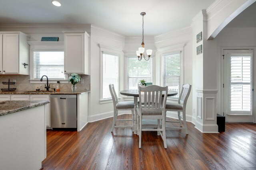
<instances>
[{"instance_id":1,"label":"round dining table with dark top and white legs","mask_svg":"<svg viewBox=\"0 0 256 170\"><path fill-rule=\"evenodd\" d=\"M133 96L134 97L134 134L137 134L137 131L139 128L138 123L137 123L137 120L139 120L139 115L137 114L139 90L138 89L122 90L119 93L124 96ZM168 90L167 96L176 96L177 94L178 94L178 92Z\"/></svg>"}]
</instances>

